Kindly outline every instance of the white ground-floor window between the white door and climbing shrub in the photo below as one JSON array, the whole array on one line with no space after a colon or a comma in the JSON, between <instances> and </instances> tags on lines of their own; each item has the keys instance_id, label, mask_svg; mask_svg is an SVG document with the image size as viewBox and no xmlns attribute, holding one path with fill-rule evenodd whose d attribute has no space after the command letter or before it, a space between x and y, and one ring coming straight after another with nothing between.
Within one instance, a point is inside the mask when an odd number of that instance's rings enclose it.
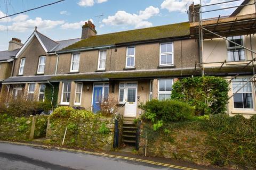
<instances>
[{"instance_id":1,"label":"white ground-floor window between the white door and climbing shrub","mask_svg":"<svg viewBox=\"0 0 256 170\"><path fill-rule=\"evenodd\" d=\"M158 80L158 100L171 98L173 79Z\"/></svg>"}]
</instances>

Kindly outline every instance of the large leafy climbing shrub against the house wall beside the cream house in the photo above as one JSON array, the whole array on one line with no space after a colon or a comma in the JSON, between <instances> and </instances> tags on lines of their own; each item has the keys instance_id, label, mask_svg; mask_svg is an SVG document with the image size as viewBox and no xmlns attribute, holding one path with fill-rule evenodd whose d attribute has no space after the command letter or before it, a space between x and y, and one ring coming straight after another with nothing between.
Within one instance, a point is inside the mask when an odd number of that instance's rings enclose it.
<instances>
[{"instance_id":1,"label":"large leafy climbing shrub against the house wall beside the cream house","mask_svg":"<svg viewBox=\"0 0 256 170\"><path fill-rule=\"evenodd\" d=\"M225 113L229 84L219 77L185 78L173 84L172 99L195 106L197 115Z\"/></svg>"}]
</instances>

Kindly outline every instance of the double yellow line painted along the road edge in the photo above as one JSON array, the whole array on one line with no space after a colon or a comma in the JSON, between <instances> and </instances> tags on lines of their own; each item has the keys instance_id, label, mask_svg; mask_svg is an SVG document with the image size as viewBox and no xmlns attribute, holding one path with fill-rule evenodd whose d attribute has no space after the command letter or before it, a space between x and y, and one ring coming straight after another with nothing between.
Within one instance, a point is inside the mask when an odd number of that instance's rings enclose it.
<instances>
[{"instance_id":1,"label":"double yellow line painted along the road edge","mask_svg":"<svg viewBox=\"0 0 256 170\"><path fill-rule=\"evenodd\" d=\"M68 149L68 148L61 148L61 147L52 147L52 146L46 146L46 145L37 145L37 144L31 144L31 143L1 141L1 140L0 140L0 142L12 143L12 144L16 144L16 145L33 146L33 147L55 148L55 149L59 149L59 150L63 150L63 151L80 152L80 153L83 153L83 154L90 154L90 155L97 155L97 156L105 156L105 157L111 157L111 158L119 158L119 159L125 159L125 160L132 160L132 161L135 161L135 162L142 162L142 163L148 163L148 164L153 164L153 165L160 165L160 166L165 166L165 167L170 167L170 168L178 168L178 169L182 169L182 170L199 170L199 169L182 167L182 166L177 166L177 165L153 162L153 161L150 161L150 160L130 158L130 157L124 157L124 156L117 156L117 155L109 155L109 154L104 154L104 153L90 152L90 151L77 150L77 149Z\"/></svg>"}]
</instances>

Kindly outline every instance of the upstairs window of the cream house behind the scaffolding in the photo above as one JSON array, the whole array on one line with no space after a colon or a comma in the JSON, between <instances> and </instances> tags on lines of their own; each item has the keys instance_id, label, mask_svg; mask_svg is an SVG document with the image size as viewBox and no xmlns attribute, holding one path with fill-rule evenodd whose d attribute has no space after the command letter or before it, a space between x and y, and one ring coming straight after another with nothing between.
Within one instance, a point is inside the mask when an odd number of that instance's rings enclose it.
<instances>
[{"instance_id":1,"label":"upstairs window of the cream house behind the scaffolding","mask_svg":"<svg viewBox=\"0 0 256 170\"><path fill-rule=\"evenodd\" d=\"M229 40L243 46L243 36L228 37ZM245 60L244 48L228 41L228 61Z\"/></svg>"}]
</instances>

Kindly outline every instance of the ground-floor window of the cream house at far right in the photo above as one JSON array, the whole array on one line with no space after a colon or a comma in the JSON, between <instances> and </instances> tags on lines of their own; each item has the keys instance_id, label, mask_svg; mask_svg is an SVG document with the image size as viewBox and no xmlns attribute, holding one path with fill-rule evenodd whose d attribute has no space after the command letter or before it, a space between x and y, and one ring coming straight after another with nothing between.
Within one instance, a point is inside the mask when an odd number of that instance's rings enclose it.
<instances>
[{"instance_id":1,"label":"ground-floor window of the cream house at far right","mask_svg":"<svg viewBox=\"0 0 256 170\"><path fill-rule=\"evenodd\" d=\"M241 90L241 88L249 78L239 78L233 80L232 88L234 94L234 108L253 108L253 97L252 97L252 84L251 82L247 83ZM236 94L235 92L239 90Z\"/></svg>"}]
</instances>

